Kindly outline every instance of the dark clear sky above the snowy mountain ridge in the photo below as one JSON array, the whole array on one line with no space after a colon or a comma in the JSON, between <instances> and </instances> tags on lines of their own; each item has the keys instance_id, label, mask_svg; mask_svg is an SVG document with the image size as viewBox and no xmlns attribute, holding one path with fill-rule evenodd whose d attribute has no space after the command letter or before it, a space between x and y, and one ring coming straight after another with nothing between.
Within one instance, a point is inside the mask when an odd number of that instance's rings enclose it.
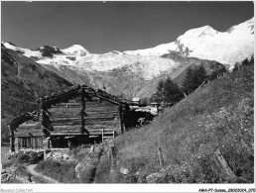
<instances>
[{"instance_id":1,"label":"dark clear sky above the snowy mountain ridge","mask_svg":"<svg viewBox=\"0 0 256 193\"><path fill-rule=\"evenodd\" d=\"M93 53L152 48L205 25L224 32L254 16L252 1L1 1L1 41L80 45Z\"/></svg>"}]
</instances>

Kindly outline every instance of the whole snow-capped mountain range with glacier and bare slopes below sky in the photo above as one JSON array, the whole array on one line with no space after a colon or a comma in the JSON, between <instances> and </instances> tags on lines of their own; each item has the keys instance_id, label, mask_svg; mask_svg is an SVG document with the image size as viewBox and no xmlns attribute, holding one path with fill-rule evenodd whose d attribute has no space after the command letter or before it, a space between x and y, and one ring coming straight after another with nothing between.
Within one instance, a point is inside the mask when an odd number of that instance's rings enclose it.
<instances>
[{"instance_id":1,"label":"whole snow-capped mountain range with glacier and bare slopes below sky","mask_svg":"<svg viewBox=\"0 0 256 193\"><path fill-rule=\"evenodd\" d=\"M168 74L176 78L192 64L194 57L215 60L227 64L230 69L235 62L250 57L254 53L254 18L226 32L204 26L189 30L169 44L123 52L113 50L97 54L79 45L64 49L45 46L32 50L8 42L2 44L18 54L33 58L70 82L88 84L111 94L145 97L154 93L161 77ZM182 51L189 50L189 55L181 55L188 62L162 56L170 50L181 51L181 48Z\"/></svg>"}]
</instances>

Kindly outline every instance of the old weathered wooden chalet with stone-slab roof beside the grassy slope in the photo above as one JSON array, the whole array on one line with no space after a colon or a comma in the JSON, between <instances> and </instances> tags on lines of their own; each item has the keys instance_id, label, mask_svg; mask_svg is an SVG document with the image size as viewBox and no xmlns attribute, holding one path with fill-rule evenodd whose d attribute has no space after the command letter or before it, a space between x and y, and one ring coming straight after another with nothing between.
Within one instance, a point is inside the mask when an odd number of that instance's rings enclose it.
<instances>
[{"instance_id":1,"label":"old weathered wooden chalet with stone-slab roof beside the grassy slope","mask_svg":"<svg viewBox=\"0 0 256 193\"><path fill-rule=\"evenodd\" d=\"M41 97L9 123L10 150L60 148L114 138L130 125L130 101L86 85ZM16 148L15 148L16 146Z\"/></svg>"}]
</instances>

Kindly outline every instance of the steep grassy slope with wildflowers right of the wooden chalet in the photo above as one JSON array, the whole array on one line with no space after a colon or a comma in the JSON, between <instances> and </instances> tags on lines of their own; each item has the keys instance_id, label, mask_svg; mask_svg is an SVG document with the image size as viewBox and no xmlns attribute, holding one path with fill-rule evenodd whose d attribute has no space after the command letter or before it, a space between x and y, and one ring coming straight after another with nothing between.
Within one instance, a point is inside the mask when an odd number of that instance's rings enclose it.
<instances>
[{"instance_id":1,"label":"steep grassy slope with wildflowers right of the wooden chalet","mask_svg":"<svg viewBox=\"0 0 256 193\"><path fill-rule=\"evenodd\" d=\"M175 182L252 182L253 80L253 65L244 66L193 92L152 124L118 137L116 169L123 166L131 174L140 171L138 178L157 172L161 146ZM236 178L223 172L213 155L217 148ZM124 181L127 179L119 176L115 182Z\"/></svg>"}]
</instances>

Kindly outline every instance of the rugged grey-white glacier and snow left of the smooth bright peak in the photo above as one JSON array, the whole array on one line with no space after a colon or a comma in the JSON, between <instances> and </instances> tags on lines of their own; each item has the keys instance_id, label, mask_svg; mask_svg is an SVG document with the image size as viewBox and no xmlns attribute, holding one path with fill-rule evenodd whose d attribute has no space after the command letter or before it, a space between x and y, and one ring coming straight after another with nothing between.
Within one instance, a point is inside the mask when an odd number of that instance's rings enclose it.
<instances>
[{"instance_id":1,"label":"rugged grey-white glacier and snow left of the smooth bright peak","mask_svg":"<svg viewBox=\"0 0 256 193\"><path fill-rule=\"evenodd\" d=\"M10 43L3 44L6 48L24 52L25 56L34 57L40 64L53 65L60 70L63 65L76 71L109 71L128 67L134 73L141 73L144 79L150 80L178 65L172 59L157 55L129 55L117 51L96 54L89 53L85 48L77 45L61 49L63 53L54 54L53 57L44 57L40 50L18 48Z\"/></svg>"}]
</instances>

